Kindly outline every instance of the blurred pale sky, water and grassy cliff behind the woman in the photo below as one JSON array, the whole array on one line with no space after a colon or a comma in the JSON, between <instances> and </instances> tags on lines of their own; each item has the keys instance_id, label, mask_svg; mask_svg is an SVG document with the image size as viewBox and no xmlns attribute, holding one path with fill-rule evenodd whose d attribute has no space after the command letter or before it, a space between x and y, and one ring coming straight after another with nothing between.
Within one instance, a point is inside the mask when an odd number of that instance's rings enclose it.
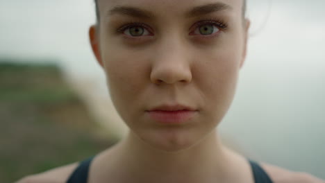
<instances>
[{"instance_id":1,"label":"blurred pale sky, water and grassy cliff behind the woman","mask_svg":"<svg viewBox=\"0 0 325 183\"><path fill-rule=\"evenodd\" d=\"M248 0L247 60L219 131L325 179L325 1ZM0 182L95 155L126 133L92 55L92 0L0 0Z\"/></svg>"}]
</instances>

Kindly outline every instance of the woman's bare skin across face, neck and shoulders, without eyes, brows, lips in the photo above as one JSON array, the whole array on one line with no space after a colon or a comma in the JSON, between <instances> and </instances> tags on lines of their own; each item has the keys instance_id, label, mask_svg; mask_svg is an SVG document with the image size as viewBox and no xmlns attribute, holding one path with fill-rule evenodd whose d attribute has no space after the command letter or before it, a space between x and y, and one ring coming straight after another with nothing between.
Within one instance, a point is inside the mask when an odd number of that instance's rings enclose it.
<instances>
[{"instance_id":1,"label":"woman's bare skin across face, neck and shoulders, without eyes, brows, lips","mask_svg":"<svg viewBox=\"0 0 325 183\"><path fill-rule=\"evenodd\" d=\"M88 182L253 182L247 159L226 148L215 130L233 101L247 52L249 20L242 17L242 1L219 0L231 9L184 17L193 7L215 2L99 0L100 26L90 28L90 42L106 73L113 103L130 132L94 158ZM156 19L107 15L111 8L124 5L154 10ZM201 35L197 22L210 18L224 21L228 28ZM128 31L117 33L128 21L140 21L150 31L141 37L131 37ZM180 125L156 123L146 112L175 103L197 112ZM261 165L274 182L322 182ZM19 183L65 182L76 166Z\"/></svg>"}]
</instances>

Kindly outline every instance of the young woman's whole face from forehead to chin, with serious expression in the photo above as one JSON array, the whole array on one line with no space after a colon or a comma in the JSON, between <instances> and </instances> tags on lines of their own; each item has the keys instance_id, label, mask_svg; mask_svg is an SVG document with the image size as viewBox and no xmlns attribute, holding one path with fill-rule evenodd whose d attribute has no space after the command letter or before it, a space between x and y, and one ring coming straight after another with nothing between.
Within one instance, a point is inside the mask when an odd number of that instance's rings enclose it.
<instances>
[{"instance_id":1,"label":"young woman's whole face from forehead to chin, with serious expression","mask_svg":"<svg viewBox=\"0 0 325 183\"><path fill-rule=\"evenodd\" d=\"M100 28L90 30L92 47L131 132L174 151L215 130L233 101L246 55L249 22L242 17L242 0L98 3ZM156 107L174 105L193 111L188 118L176 114L181 123L151 115Z\"/></svg>"}]
</instances>

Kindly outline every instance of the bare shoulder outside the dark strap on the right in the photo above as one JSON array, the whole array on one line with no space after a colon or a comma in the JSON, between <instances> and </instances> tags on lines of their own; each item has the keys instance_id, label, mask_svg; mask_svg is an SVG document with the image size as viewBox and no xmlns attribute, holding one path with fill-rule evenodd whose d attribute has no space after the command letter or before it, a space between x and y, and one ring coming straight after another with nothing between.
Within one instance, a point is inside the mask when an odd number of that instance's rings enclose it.
<instances>
[{"instance_id":1,"label":"bare shoulder outside the dark strap on the right","mask_svg":"<svg viewBox=\"0 0 325 183\"><path fill-rule=\"evenodd\" d=\"M270 164L260 164L274 183L325 183L308 173L288 171Z\"/></svg>"}]
</instances>

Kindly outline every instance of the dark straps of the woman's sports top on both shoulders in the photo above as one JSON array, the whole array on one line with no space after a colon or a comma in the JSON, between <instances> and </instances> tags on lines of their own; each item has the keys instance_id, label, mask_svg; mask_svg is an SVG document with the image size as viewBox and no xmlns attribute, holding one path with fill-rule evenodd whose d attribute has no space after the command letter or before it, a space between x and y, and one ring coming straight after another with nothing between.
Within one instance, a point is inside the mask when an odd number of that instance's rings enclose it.
<instances>
[{"instance_id":1,"label":"dark straps of the woman's sports top on both shoulders","mask_svg":"<svg viewBox=\"0 0 325 183\"><path fill-rule=\"evenodd\" d=\"M87 183L89 167L93 158L94 157L90 157L81 162L74 170L74 173L69 177L67 183ZM253 170L255 183L272 183L271 178L256 162L249 160L249 164L251 164L251 169Z\"/></svg>"}]
</instances>

